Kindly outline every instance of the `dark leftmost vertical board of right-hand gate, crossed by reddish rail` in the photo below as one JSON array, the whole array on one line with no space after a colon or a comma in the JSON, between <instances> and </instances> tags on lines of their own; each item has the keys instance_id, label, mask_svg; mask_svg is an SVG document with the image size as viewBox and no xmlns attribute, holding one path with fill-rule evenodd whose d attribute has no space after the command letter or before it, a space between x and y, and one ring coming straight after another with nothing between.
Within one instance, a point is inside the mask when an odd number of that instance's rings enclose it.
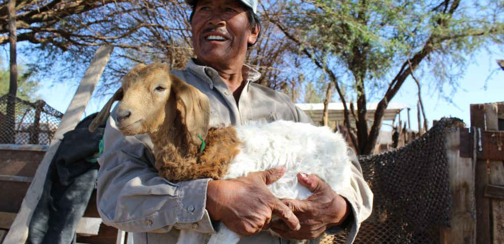
<instances>
[{"instance_id":1,"label":"dark leftmost vertical board of right-hand gate, crossed by reddish rail","mask_svg":"<svg viewBox=\"0 0 504 244\"><path fill-rule=\"evenodd\" d=\"M486 129L485 105L470 105L471 128ZM477 132L478 133L478 132ZM478 145L477 145L478 147ZM477 148L479 150L479 148ZM484 191L489 183L488 166L486 160L477 160L475 165L475 199L476 199L476 243L489 244L490 234L490 201L485 197Z\"/></svg>"}]
</instances>

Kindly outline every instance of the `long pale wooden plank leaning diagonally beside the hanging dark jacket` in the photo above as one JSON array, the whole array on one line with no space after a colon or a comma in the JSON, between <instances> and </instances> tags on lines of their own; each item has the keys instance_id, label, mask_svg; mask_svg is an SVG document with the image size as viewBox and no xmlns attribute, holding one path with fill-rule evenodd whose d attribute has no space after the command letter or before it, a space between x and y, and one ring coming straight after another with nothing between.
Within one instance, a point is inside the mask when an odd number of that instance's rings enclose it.
<instances>
[{"instance_id":1,"label":"long pale wooden plank leaning diagonally beside the hanging dark jacket","mask_svg":"<svg viewBox=\"0 0 504 244\"><path fill-rule=\"evenodd\" d=\"M31 182L28 192L21 204L19 214L12 224L10 228L11 231L7 234L4 244L23 244L26 241L26 238L28 237L28 225L31 220L31 215L33 214L33 209L35 209L38 199L41 197L49 164L56 153L63 134L75 128L77 123L79 123L94 87L98 83L98 80L105 69L105 65L108 63L112 50L112 46L102 46L98 48L96 54L91 60L91 63L87 68L79 87L77 88L72 102L61 118L61 123L51 140L47 153L37 169L35 178Z\"/></svg>"}]
</instances>

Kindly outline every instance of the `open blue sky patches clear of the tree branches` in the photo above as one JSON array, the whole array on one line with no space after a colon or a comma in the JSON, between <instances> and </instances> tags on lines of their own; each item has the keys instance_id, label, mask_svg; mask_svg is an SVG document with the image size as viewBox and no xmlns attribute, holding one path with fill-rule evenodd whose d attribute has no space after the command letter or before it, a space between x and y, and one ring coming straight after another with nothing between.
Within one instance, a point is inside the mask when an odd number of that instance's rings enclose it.
<instances>
[{"instance_id":1,"label":"open blue sky patches clear of the tree branches","mask_svg":"<svg viewBox=\"0 0 504 244\"><path fill-rule=\"evenodd\" d=\"M470 126L470 104L502 102L504 101L504 70L498 68L495 59L504 59L504 53L482 52L467 67L463 77L459 80L459 88L453 96L453 104L447 103L443 99L438 99L437 92L433 92L429 87L422 87L422 100L426 110L426 117L429 126L432 120L446 117L458 117ZM420 78L420 82L422 78ZM75 82L57 83L51 86L48 82L41 84L38 92L44 101L58 111L65 112L77 89ZM393 102L404 102L411 108L410 119L411 129L417 130L417 85L413 79L408 78L401 87L399 93L392 100ZM86 108L85 115L99 111L106 99L92 97ZM401 112L401 119L406 120L406 111ZM390 124L385 121L384 124ZM384 126L383 130L390 130Z\"/></svg>"}]
</instances>

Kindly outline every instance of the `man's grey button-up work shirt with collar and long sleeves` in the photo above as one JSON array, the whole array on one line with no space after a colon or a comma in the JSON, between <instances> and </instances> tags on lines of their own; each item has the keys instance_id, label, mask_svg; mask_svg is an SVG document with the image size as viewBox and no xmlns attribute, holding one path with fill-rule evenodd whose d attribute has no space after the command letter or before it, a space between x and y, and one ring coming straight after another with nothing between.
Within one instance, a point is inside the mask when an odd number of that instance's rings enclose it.
<instances>
[{"instance_id":1,"label":"man's grey button-up work shirt with collar and long sleeves","mask_svg":"<svg viewBox=\"0 0 504 244\"><path fill-rule=\"evenodd\" d=\"M260 74L243 67L246 85L236 103L217 71L196 65L193 60L185 70L172 71L208 96L210 125L244 125L248 121L269 122L277 119L311 123L285 94L253 83ZM170 182L154 169L153 145L146 135L124 136L115 126L115 109L107 120L104 154L98 160L98 211L105 224L135 232L135 244L176 243L179 230L191 229L214 233L205 209L208 180ZM353 153L352 153L353 154ZM360 222L371 212L372 193L362 177L353 155L352 189L342 192L353 208L354 223L347 243L357 235ZM279 237L261 232L241 238L239 243L287 243Z\"/></svg>"}]
</instances>

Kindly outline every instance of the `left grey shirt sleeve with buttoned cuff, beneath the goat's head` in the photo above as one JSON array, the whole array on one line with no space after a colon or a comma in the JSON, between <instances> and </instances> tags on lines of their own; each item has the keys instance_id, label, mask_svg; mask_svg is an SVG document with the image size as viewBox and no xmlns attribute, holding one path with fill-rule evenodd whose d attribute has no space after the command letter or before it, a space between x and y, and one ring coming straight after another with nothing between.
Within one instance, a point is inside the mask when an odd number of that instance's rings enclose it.
<instances>
[{"instance_id":1,"label":"left grey shirt sleeve with buttoned cuff, beneath the goat's head","mask_svg":"<svg viewBox=\"0 0 504 244\"><path fill-rule=\"evenodd\" d=\"M210 179L170 182L159 177L149 146L147 135L124 136L109 117L97 191L104 223L128 232L177 227L214 233L205 209Z\"/></svg>"}]
</instances>

